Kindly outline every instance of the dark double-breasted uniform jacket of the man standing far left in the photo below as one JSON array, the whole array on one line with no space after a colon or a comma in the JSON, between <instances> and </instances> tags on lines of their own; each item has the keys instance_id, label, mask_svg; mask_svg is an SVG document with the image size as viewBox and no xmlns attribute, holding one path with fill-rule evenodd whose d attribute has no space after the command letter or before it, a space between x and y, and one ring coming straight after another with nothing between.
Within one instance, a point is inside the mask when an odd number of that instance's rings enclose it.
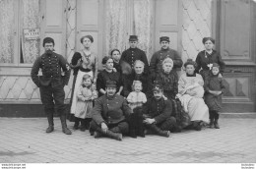
<instances>
[{"instance_id":1,"label":"dark double-breasted uniform jacket of the man standing far left","mask_svg":"<svg viewBox=\"0 0 256 169\"><path fill-rule=\"evenodd\" d=\"M42 76L38 77L38 71L41 69ZM64 76L61 75L61 70ZM37 57L32 66L32 82L38 87L41 85L52 87L68 84L70 78L70 70L68 63L63 56L52 52L51 55L45 53Z\"/></svg>"}]
</instances>

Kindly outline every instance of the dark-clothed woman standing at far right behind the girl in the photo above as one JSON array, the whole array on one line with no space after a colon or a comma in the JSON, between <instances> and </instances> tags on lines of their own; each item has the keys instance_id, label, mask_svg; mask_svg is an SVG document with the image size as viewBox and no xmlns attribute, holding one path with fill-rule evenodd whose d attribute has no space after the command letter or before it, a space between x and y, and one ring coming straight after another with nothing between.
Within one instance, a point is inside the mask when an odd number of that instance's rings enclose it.
<instances>
[{"instance_id":1,"label":"dark-clothed woman standing at far right behind the girl","mask_svg":"<svg viewBox=\"0 0 256 169\"><path fill-rule=\"evenodd\" d=\"M205 45L205 50L198 53L196 58L197 68L196 73L200 73L204 81L209 77L210 70L213 63L218 63L220 65L220 78L224 73L224 61L219 52L214 50L215 39L212 37L204 37L203 44ZM200 69L202 70L200 71Z\"/></svg>"}]
</instances>

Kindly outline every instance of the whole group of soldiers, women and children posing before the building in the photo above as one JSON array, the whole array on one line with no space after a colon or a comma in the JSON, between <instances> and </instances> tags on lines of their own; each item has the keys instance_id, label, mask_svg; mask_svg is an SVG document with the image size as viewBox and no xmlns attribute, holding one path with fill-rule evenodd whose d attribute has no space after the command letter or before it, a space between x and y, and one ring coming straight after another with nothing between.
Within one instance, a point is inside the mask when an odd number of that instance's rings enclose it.
<instances>
[{"instance_id":1,"label":"whole group of soldiers, women and children posing before the building","mask_svg":"<svg viewBox=\"0 0 256 169\"><path fill-rule=\"evenodd\" d=\"M169 48L169 37L160 37L160 51L149 62L146 53L137 47L138 36L130 35L130 48L122 53L113 49L110 56L104 56L99 73L98 58L91 50L93 42L92 35L83 36L84 48L68 64L53 52L54 40L43 39L45 53L32 66L32 81L40 88L49 124L46 133L54 130L54 103L67 135L71 131L66 125L66 113L75 122L74 130L90 130L95 138L117 141L122 141L123 135L137 138L155 134L168 138L182 129L200 131L206 124L220 128L224 61L213 49L213 38L203 38L205 50L196 61L188 59L183 65L178 53ZM185 74L178 78L176 70L182 66ZM70 68L74 81L68 112L63 87L68 83Z\"/></svg>"}]
</instances>

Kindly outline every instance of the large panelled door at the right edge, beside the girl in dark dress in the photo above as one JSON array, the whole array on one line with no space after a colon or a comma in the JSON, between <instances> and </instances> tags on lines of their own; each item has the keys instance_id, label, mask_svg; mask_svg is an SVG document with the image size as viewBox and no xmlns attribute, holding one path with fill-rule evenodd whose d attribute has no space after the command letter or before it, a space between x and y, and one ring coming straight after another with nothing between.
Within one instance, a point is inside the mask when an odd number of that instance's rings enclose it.
<instances>
[{"instance_id":1,"label":"large panelled door at the right edge, beside the girl in dark dress","mask_svg":"<svg viewBox=\"0 0 256 169\"><path fill-rule=\"evenodd\" d=\"M255 3L224 0L219 1L219 7L219 48L226 64L227 86L223 111L255 112Z\"/></svg>"}]
</instances>

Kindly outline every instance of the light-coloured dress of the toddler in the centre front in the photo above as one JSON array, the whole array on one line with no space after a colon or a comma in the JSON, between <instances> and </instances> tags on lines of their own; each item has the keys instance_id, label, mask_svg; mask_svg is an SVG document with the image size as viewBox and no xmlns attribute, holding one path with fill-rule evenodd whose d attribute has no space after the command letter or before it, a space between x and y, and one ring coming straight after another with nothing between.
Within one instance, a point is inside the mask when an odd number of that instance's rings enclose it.
<instances>
[{"instance_id":1,"label":"light-coloured dress of the toddler in the centre front","mask_svg":"<svg viewBox=\"0 0 256 169\"><path fill-rule=\"evenodd\" d=\"M132 91L127 96L127 101L129 102L129 106L133 110L136 107L142 106L144 103L147 102L146 94L142 91Z\"/></svg>"}]
</instances>

